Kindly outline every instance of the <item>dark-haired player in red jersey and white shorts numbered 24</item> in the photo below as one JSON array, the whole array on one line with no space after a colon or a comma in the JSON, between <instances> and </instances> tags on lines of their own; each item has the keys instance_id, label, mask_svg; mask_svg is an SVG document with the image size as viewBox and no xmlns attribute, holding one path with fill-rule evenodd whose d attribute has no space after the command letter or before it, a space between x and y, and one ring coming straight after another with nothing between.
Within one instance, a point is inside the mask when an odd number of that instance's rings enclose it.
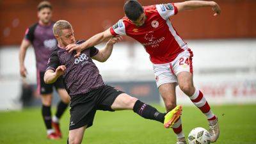
<instances>
[{"instance_id":1,"label":"dark-haired player in red jersey and white shorts numbered 24","mask_svg":"<svg viewBox=\"0 0 256 144\"><path fill-rule=\"evenodd\" d=\"M110 37L131 36L150 54L157 87L163 97L166 111L176 106L175 86L179 84L182 92L186 93L195 106L207 116L209 131L212 134L211 142L214 142L220 134L218 119L212 113L203 93L193 85L193 52L170 22L170 17L178 12L202 7L212 8L214 16L221 12L220 6L213 1L186 1L143 7L138 1L130 0L124 5L126 17L119 20L112 28L93 36L81 45L68 45L67 50L70 52L76 50L78 56L84 49ZM173 131L177 134L177 144L186 143L180 118L173 125Z\"/></svg>"}]
</instances>

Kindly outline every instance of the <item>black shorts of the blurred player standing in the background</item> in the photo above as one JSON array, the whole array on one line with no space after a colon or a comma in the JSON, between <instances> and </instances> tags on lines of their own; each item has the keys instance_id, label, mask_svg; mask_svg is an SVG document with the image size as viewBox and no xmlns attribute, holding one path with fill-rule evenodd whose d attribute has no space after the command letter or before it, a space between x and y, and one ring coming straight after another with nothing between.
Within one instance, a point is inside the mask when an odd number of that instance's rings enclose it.
<instances>
[{"instance_id":1,"label":"black shorts of the blurred player standing in the background","mask_svg":"<svg viewBox=\"0 0 256 144\"><path fill-rule=\"evenodd\" d=\"M52 93L53 86L56 88L65 88L64 81L62 77L59 77L55 83L46 84L44 83L44 73L37 72L37 90L40 94L49 94Z\"/></svg>"}]
</instances>

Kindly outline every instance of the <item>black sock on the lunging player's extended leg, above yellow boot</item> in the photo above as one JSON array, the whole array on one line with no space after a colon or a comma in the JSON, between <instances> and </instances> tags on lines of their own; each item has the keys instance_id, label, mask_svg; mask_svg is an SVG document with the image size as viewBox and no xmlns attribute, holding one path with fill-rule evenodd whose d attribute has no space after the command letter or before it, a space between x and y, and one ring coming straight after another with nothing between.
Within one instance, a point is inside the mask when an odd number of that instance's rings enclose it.
<instances>
[{"instance_id":1,"label":"black sock on the lunging player's extended leg, above yellow boot","mask_svg":"<svg viewBox=\"0 0 256 144\"><path fill-rule=\"evenodd\" d=\"M143 118L147 118L150 120L157 120L158 122L164 123L165 113L160 113L156 108L137 100L133 107L134 113L138 113L138 115Z\"/></svg>"}]
</instances>

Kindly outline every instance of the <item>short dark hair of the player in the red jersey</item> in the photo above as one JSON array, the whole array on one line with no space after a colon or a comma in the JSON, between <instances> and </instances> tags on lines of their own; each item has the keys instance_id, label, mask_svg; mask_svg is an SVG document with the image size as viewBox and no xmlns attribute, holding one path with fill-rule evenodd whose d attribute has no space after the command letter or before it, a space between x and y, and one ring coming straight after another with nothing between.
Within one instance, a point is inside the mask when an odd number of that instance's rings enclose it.
<instances>
[{"instance_id":1,"label":"short dark hair of the player in the red jersey","mask_svg":"<svg viewBox=\"0 0 256 144\"><path fill-rule=\"evenodd\" d=\"M130 20L138 20L144 10L138 1L129 0L124 4L124 12Z\"/></svg>"}]
</instances>

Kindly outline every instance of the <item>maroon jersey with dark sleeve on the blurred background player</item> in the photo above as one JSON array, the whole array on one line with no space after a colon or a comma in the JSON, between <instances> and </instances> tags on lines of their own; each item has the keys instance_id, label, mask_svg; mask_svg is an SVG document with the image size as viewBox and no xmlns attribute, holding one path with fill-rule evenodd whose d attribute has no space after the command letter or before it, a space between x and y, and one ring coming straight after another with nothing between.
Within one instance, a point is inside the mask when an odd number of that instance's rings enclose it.
<instances>
[{"instance_id":1,"label":"maroon jersey with dark sleeve on the blurred background player","mask_svg":"<svg viewBox=\"0 0 256 144\"><path fill-rule=\"evenodd\" d=\"M26 30L25 39L29 40L35 49L36 68L40 72L45 72L49 57L57 46L57 41L52 32L53 25L54 22L49 26L36 23Z\"/></svg>"}]
</instances>

